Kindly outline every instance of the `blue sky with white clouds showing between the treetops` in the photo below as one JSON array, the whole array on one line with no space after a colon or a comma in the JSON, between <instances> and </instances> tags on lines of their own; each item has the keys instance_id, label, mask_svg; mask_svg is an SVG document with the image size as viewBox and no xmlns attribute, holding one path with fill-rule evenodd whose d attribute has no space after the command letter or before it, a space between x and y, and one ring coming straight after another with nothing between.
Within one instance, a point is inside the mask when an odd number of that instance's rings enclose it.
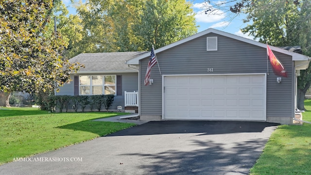
<instances>
[{"instance_id":1,"label":"blue sky with white clouds showing between the treetops","mask_svg":"<svg viewBox=\"0 0 311 175\"><path fill-rule=\"evenodd\" d=\"M78 0L75 0L78 1ZM85 1L85 0L83 0ZM253 39L252 36L248 36L247 34L243 34L241 32L241 28L245 27L246 24L242 22L242 19L245 17L243 15L236 16L233 20L229 17L228 13L224 13L224 11L218 11L215 15L206 15L204 6L208 6L205 0L190 0L192 1L193 11L196 13L195 19L196 24L200 26L198 28L198 32L202 32L208 28L214 28L217 30L221 30L224 32L236 34L239 36L243 36L249 39ZM70 13L75 13L73 8L70 8L71 2L70 0L63 0L66 6L69 6L68 10ZM218 1L220 2L220 1Z\"/></svg>"}]
</instances>

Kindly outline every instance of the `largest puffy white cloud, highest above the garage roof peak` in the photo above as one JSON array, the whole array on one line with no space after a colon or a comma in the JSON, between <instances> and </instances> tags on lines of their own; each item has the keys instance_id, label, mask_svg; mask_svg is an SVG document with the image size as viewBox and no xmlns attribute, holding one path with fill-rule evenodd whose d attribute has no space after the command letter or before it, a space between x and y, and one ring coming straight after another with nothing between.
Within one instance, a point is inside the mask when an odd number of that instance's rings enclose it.
<instances>
[{"instance_id":1,"label":"largest puffy white cloud, highest above the garage roof peak","mask_svg":"<svg viewBox=\"0 0 311 175\"><path fill-rule=\"evenodd\" d=\"M205 11L209 6L208 3L195 3L192 5L193 11L196 12L196 15L194 16L196 22L211 23L225 18L225 13L221 10L215 10L209 15L205 14Z\"/></svg>"}]
</instances>

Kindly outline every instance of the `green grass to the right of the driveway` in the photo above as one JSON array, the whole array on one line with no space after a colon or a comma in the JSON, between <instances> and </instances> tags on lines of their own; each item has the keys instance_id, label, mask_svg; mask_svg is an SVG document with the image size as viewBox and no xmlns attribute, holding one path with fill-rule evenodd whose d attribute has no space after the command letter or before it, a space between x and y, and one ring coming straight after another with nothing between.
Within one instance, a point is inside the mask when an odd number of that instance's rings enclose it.
<instances>
[{"instance_id":1,"label":"green grass to the right of the driveway","mask_svg":"<svg viewBox=\"0 0 311 175\"><path fill-rule=\"evenodd\" d=\"M311 122L311 100L303 120ZM311 175L311 125L281 125L271 135L250 175Z\"/></svg>"}]
</instances>

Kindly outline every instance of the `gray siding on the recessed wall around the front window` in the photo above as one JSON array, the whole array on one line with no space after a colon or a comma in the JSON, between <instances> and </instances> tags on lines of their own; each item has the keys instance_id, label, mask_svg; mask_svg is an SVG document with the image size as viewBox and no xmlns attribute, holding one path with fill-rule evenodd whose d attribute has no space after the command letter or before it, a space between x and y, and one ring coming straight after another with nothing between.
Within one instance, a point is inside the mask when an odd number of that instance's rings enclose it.
<instances>
[{"instance_id":1,"label":"gray siding on the recessed wall around the front window","mask_svg":"<svg viewBox=\"0 0 311 175\"><path fill-rule=\"evenodd\" d=\"M82 74L79 74L82 75ZM77 76L79 76L77 75ZM90 75L90 74L87 74ZM95 74L94 74L95 75ZM101 74L96 74L101 75ZM134 92L138 91L138 73L118 73L118 74L104 74L104 75L121 75L122 76L122 95L115 95L114 101L109 108L110 110L116 110L117 106L122 106L124 109L124 91ZM73 80L73 76L71 76ZM56 95L74 95L74 82L71 81L69 84L65 84L62 87L59 87L59 93Z\"/></svg>"}]
</instances>

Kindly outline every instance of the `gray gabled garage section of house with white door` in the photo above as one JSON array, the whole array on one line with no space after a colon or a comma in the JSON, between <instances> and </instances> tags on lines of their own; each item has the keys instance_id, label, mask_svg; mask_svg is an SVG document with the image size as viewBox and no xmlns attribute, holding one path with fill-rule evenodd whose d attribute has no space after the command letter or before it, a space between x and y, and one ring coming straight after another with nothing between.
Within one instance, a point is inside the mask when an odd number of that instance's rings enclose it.
<instances>
[{"instance_id":1,"label":"gray gabled garage section of house with white door","mask_svg":"<svg viewBox=\"0 0 311 175\"><path fill-rule=\"evenodd\" d=\"M155 49L162 75L155 65L150 77L153 83L148 86L144 85L144 77L150 52L128 60L126 64L139 67L140 119L292 124L297 76L310 60L308 56L270 46L287 70L287 78L279 77L267 62L266 46L207 29ZM277 78L281 78L279 83Z\"/></svg>"}]
</instances>

